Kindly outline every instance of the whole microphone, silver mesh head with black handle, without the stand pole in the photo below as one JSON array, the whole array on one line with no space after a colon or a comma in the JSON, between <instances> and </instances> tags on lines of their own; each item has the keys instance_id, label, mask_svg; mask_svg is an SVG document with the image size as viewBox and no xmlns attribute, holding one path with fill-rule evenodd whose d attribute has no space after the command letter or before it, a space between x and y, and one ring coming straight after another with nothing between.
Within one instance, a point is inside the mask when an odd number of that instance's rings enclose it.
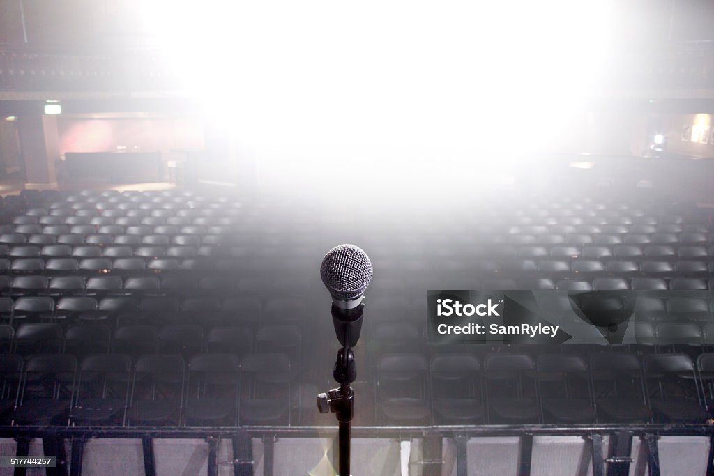
<instances>
[{"instance_id":1,"label":"whole microphone, silver mesh head with black handle, without the stand pole","mask_svg":"<svg viewBox=\"0 0 714 476\"><path fill-rule=\"evenodd\" d=\"M332 320L343 347L353 347L359 340L362 300L372 273L367 253L355 245L336 246L322 260L320 277L332 296Z\"/></svg>"}]
</instances>

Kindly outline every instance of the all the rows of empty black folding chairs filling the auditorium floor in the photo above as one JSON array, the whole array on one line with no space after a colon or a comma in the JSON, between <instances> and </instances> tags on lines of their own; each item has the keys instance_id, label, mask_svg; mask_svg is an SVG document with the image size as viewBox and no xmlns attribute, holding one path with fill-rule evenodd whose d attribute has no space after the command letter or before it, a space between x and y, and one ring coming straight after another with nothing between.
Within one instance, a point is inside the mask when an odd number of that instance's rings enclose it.
<instances>
[{"instance_id":1,"label":"all the rows of empty black folding chairs filling the auditorium floor","mask_svg":"<svg viewBox=\"0 0 714 476\"><path fill-rule=\"evenodd\" d=\"M375 268L356 349L361 398L375 405L363 422L700 422L714 401L714 295L691 294L714 289L712 214L693 205L493 197L446 216L372 223L365 211L354 217L363 229L315 203L180 190L24 194L0 211L0 379L11 384L0 417L10 420L17 375L51 353L76 359L77 380L54 396L80 398L51 415L59 425L306 421L294 399L326 390L337 348L331 324L318 325L329 323L318 265L343 241ZM587 310L578 291L673 293L608 301L634 316L638 345L454 349L426 345L425 293L444 288L558 290L543 316L553 323L573 320L571 300ZM221 385L219 363L231 374ZM395 375L405 385L394 388ZM672 393L677 379L695 391Z\"/></svg>"}]
</instances>

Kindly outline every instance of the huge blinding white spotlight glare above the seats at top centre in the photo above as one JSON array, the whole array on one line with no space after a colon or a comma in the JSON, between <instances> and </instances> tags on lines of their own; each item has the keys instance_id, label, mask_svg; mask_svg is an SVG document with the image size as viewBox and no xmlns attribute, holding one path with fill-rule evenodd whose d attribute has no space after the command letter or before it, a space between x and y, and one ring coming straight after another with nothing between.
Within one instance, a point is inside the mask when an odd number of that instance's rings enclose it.
<instances>
[{"instance_id":1,"label":"huge blinding white spotlight glare above the seats at top centre","mask_svg":"<svg viewBox=\"0 0 714 476\"><path fill-rule=\"evenodd\" d=\"M605 3L141 2L144 28L264 183L362 168L393 189L424 187L445 163L462 181L505 173L503 151L558 143L598 86Z\"/></svg>"}]
</instances>

